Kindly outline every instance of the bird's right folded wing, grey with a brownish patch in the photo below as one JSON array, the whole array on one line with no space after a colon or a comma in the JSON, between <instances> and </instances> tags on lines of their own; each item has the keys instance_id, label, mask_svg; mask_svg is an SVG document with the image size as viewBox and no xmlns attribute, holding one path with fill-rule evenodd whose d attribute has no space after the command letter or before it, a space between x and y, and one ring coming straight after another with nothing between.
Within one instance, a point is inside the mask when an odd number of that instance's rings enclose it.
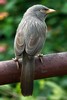
<instances>
[{"instance_id":1,"label":"bird's right folded wing, grey with a brownish patch","mask_svg":"<svg viewBox=\"0 0 67 100\"><path fill-rule=\"evenodd\" d=\"M25 37L26 52L29 55L35 55L38 53L44 44L46 27L43 24L29 25L27 28L28 32Z\"/></svg>"}]
</instances>

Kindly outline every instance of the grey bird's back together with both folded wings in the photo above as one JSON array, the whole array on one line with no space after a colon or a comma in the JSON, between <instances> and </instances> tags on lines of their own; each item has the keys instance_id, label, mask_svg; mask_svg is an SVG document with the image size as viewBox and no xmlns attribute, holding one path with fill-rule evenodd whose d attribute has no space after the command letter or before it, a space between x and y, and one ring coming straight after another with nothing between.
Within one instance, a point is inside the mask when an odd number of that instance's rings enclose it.
<instances>
[{"instance_id":1,"label":"grey bird's back together with both folded wings","mask_svg":"<svg viewBox=\"0 0 67 100\"><path fill-rule=\"evenodd\" d=\"M21 55L25 51L29 55L35 55L38 53L46 38L46 24L41 20L37 19L34 16L27 16L22 19L21 23L18 26L16 37L18 41L15 40L16 45L15 49L17 54L19 51Z\"/></svg>"}]
</instances>

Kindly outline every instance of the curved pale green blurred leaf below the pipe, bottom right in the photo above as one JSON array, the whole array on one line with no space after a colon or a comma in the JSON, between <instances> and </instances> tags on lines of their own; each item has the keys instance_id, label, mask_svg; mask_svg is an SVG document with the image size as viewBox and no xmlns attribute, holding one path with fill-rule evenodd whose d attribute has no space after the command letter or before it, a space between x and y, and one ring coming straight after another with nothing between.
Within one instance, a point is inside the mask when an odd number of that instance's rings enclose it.
<instances>
[{"instance_id":1,"label":"curved pale green blurred leaf below the pipe, bottom right","mask_svg":"<svg viewBox=\"0 0 67 100\"><path fill-rule=\"evenodd\" d=\"M50 98L50 100L60 100L61 98L63 98L63 95L66 95L65 91L58 86L57 84L53 83L53 82L46 82L46 84L50 87L52 87L52 92L53 95L48 96Z\"/></svg>"}]
</instances>

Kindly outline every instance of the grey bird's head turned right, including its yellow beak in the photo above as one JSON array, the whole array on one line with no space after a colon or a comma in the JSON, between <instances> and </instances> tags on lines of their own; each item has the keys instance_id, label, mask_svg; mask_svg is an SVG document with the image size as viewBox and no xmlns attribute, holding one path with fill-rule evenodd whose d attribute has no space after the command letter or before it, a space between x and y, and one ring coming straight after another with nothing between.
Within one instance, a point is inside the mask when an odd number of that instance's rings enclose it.
<instances>
[{"instance_id":1,"label":"grey bird's head turned right, including its yellow beak","mask_svg":"<svg viewBox=\"0 0 67 100\"><path fill-rule=\"evenodd\" d=\"M44 20L46 18L46 15L52 12L55 12L55 10L50 9L44 5L34 5L28 8L28 10L26 11L24 15L25 16L33 15L34 17Z\"/></svg>"}]
</instances>

